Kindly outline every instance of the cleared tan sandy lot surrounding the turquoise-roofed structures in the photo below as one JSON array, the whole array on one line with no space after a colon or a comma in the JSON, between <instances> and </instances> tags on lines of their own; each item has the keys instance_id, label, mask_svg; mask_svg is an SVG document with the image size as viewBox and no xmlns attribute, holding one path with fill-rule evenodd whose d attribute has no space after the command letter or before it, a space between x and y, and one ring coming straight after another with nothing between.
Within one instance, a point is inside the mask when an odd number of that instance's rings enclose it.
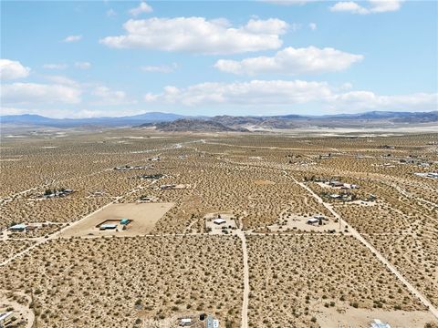
<instances>
[{"instance_id":1,"label":"cleared tan sandy lot surrounding the turquoise-roofed structures","mask_svg":"<svg viewBox=\"0 0 438 328\"><path fill-rule=\"evenodd\" d=\"M138 236L151 231L155 223L172 208L173 203L134 203L134 204L111 204L104 210L99 210L86 220L79 222L71 229L63 231L60 237L88 236L88 235L114 235ZM99 231L96 228L105 220L132 220L126 231L121 230L120 224L116 230ZM112 223L112 222L110 222Z\"/></svg>"}]
</instances>

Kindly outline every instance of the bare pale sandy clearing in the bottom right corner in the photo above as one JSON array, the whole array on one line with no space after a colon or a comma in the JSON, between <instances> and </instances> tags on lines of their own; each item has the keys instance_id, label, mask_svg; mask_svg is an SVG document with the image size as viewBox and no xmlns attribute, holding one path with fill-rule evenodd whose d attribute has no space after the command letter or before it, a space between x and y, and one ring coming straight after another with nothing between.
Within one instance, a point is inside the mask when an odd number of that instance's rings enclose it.
<instances>
[{"instance_id":1,"label":"bare pale sandy clearing in the bottom right corner","mask_svg":"<svg viewBox=\"0 0 438 328\"><path fill-rule=\"evenodd\" d=\"M391 328L423 327L425 323L435 322L431 313L423 311L383 311L346 308L326 308L320 306L320 313L316 315L322 328L368 328L374 319L383 323L390 323Z\"/></svg>"}]
</instances>

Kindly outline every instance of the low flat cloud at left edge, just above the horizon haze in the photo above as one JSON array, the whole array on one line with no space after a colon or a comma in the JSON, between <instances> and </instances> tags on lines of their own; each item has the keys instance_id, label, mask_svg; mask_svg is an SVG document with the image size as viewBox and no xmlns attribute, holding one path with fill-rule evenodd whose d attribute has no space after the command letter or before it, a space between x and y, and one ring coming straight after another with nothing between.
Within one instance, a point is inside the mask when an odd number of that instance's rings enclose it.
<instances>
[{"instance_id":1,"label":"low flat cloud at left edge, just above the horizon haze","mask_svg":"<svg viewBox=\"0 0 438 328\"><path fill-rule=\"evenodd\" d=\"M54 84L13 83L3 85L1 89L5 104L77 104L81 100L80 95L81 90L77 87Z\"/></svg>"}]
</instances>

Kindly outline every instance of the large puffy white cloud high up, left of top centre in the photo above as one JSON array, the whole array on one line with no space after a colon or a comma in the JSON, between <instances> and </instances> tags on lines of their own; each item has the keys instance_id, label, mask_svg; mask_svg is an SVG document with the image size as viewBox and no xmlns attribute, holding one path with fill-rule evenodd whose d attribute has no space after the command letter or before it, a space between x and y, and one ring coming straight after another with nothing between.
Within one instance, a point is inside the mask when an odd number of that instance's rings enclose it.
<instances>
[{"instance_id":1,"label":"large puffy white cloud high up, left of top centre","mask_svg":"<svg viewBox=\"0 0 438 328\"><path fill-rule=\"evenodd\" d=\"M107 36L100 43L114 48L143 48L210 55L277 49L285 21L251 19L245 26L230 26L225 19L203 17L130 19L123 27L126 35Z\"/></svg>"}]
</instances>

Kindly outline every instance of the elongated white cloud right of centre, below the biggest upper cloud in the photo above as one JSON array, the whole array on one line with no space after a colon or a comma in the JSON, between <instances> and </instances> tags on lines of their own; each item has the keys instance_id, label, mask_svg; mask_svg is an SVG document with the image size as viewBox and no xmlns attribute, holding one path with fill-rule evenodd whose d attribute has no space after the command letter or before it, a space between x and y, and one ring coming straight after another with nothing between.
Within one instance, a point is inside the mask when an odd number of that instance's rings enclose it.
<instances>
[{"instance_id":1,"label":"elongated white cloud right of centre, below the biggest upper cloud","mask_svg":"<svg viewBox=\"0 0 438 328\"><path fill-rule=\"evenodd\" d=\"M214 67L217 69L239 74L319 74L337 72L350 67L363 59L361 55L349 54L334 48L305 48L287 47L278 51L275 56L257 56L241 61L219 59Z\"/></svg>"}]
</instances>

